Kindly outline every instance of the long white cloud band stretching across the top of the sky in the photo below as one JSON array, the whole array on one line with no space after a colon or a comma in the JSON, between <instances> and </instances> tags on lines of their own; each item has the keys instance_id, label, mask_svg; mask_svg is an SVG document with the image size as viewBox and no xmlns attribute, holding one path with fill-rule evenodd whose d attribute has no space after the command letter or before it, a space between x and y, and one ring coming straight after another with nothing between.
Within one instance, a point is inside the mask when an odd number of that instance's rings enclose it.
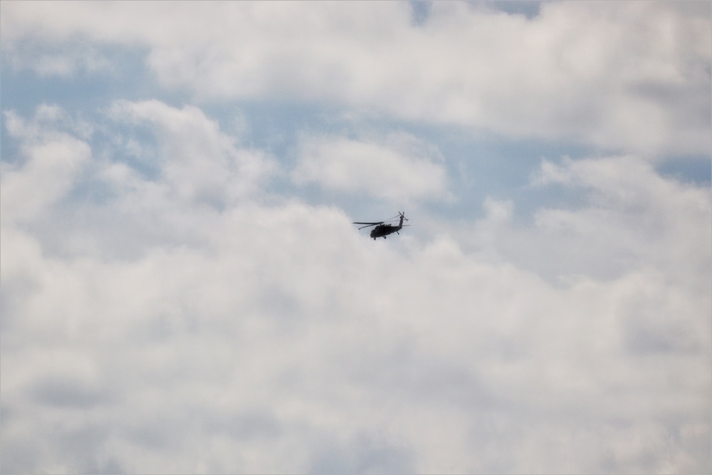
<instances>
[{"instance_id":1,"label":"long white cloud band stretching across the top of the sky","mask_svg":"<svg viewBox=\"0 0 712 475\"><path fill-rule=\"evenodd\" d=\"M3 13L7 48L73 34L140 44L164 85L198 98L337 103L651 155L712 145L708 6L553 2L526 19L435 2L420 25L406 2L33 2Z\"/></svg>"}]
</instances>

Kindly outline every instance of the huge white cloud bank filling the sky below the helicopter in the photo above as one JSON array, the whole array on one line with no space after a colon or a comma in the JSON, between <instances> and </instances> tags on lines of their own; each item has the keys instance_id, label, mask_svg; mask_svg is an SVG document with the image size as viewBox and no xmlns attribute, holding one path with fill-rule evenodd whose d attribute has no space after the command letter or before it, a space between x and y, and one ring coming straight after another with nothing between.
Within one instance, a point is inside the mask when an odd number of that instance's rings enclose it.
<instances>
[{"instance_id":1,"label":"huge white cloud bank filling the sky below the helicopter","mask_svg":"<svg viewBox=\"0 0 712 475\"><path fill-rule=\"evenodd\" d=\"M514 238L629 258L601 276L575 254L578 278L551 283L500 247L513 202L486 202L499 260L456 233L374 243L336 207L200 206L182 190L239 179L242 149L197 108L113 111L157 134L157 176L100 162L137 186L73 202L82 219L2 222L5 471L709 471L707 189L632 157L545 163L541 184L591 195L559 210L573 232L540 209ZM231 178L172 171L193 160ZM13 171L28 189L45 183L33 166ZM114 233L143 251L111 254ZM68 234L98 251L57 251ZM698 245L680 262L677 238Z\"/></svg>"}]
</instances>

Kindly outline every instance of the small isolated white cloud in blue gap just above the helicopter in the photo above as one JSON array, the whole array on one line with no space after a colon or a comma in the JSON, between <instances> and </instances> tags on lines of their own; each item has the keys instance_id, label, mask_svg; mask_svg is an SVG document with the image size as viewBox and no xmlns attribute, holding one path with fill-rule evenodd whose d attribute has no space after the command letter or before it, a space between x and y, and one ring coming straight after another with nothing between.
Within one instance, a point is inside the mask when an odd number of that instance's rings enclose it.
<instances>
[{"instance_id":1,"label":"small isolated white cloud in blue gap just above the helicopter","mask_svg":"<svg viewBox=\"0 0 712 475\"><path fill-rule=\"evenodd\" d=\"M293 172L298 183L317 182L348 193L367 193L392 202L446 195L442 155L404 133L382 138L305 137Z\"/></svg>"}]
</instances>

